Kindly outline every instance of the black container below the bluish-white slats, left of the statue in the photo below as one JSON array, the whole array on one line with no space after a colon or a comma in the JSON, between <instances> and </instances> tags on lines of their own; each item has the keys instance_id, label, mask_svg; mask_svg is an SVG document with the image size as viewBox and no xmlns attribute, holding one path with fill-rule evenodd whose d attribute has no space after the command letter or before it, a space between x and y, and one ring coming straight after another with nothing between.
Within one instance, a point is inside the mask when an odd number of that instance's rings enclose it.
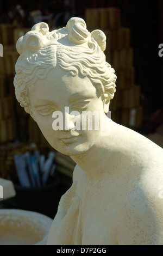
<instances>
[{"instance_id":1,"label":"black container below the bluish-white slats, left of the statue","mask_svg":"<svg viewBox=\"0 0 163 256\"><path fill-rule=\"evenodd\" d=\"M66 192L59 178L52 178L50 183L42 187L22 187L18 184L14 184L14 187L16 197L12 199L12 204L14 200L15 208L40 212L51 218L57 213L59 200Z\"/></svg>"}]
</instances>

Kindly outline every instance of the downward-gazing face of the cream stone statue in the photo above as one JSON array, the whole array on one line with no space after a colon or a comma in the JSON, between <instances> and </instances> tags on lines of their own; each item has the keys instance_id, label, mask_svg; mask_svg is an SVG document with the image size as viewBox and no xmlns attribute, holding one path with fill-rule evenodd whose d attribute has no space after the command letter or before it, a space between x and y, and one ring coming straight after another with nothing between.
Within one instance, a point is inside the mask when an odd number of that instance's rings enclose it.
<instances>
[{"instance_id":1,"label":"downward-gazing face of the cream stone statue","mask_svg":"<svg viewBox=\"0 0 163 256\"><path fill-rule=\"evenodd\" d=\"M43 136L62 154L73 156L85 153L100 136L101 131L95 130L94 124L92 130L82 130L82 111L104 113L102 97L88 77L73 77L70 72L56 66L47 78L34 84L33 91L29 93L29 100L31 114ZM65 107L69 108L70 121L74 118L71 112L79 112L81 129L72 129L70 124L69 130L66 130L65 126L63 130L53 130L52 124L56 119L52 117L53 113L60 111L64 123L67 117Z\"/></svg>"}]
</instances>

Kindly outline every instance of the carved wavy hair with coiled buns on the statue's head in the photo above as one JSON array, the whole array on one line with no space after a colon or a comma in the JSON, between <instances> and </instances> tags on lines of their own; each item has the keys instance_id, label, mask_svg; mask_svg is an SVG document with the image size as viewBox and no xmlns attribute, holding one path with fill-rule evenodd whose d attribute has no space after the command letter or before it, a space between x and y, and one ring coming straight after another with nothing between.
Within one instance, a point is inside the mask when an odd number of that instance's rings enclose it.
<instances>
[{"instance_id":1,"label":"carved wavy hair with coiled buns on the statue's head","mask_svg":"<svg viewBox=\"0 0 163 256\"><path fill-rule=\"evenodd\" d=\"M20 53L14 78L17 101L30 113L29 90L57 64L72 76L89 77L99 92L107 93L111 100L116 91L116 75L105 62L105 46L105 34L100 30L87 31L83 19L73 17L66 27L52 32L45 22L37 23L16 44Z\"/></svg>"}]
</instances>

